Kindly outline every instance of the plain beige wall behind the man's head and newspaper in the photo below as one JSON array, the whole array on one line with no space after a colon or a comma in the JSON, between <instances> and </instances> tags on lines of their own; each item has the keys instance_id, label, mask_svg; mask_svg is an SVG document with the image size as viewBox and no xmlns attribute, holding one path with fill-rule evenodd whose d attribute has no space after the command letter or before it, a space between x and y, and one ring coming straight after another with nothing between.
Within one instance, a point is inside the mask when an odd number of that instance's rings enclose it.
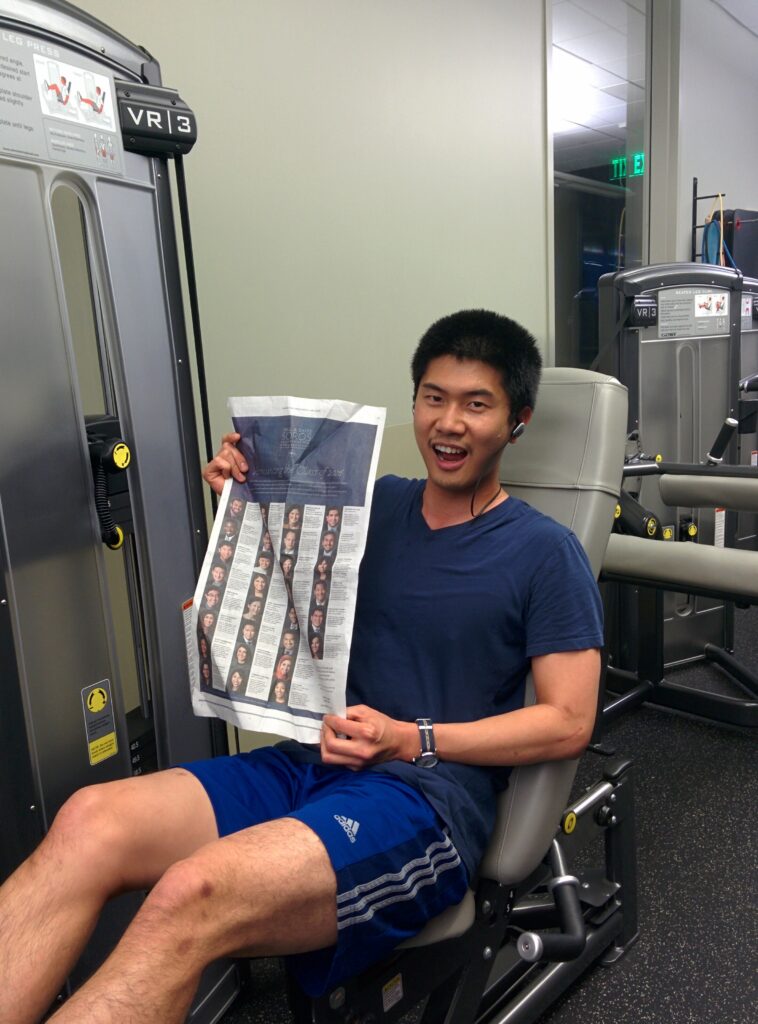
<instances>
[{"instance_id":1,"label":"plain beige wall behind the man's head and newspaper","mask_svg":"<svg viewBox=\"0 0 758 1024\"><path fill-rule=\"evenodd\" d=\"M409 419L437 316L548 337L544 5L86 0L198 116L186 159L214 435L229 393Z\"/></svg>"}]
</instances>

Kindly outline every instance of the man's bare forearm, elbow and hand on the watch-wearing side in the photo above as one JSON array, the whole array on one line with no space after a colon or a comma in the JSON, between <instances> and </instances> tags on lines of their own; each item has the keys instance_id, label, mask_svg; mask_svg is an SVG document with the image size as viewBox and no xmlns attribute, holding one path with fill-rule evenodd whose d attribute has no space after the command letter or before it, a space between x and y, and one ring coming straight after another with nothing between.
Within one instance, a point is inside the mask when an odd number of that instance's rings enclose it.
<instances>
[{"instance_id":1,"label":"man's bare forearm, elbow and hand on the watch-wearing side","mask_svg":"<svg viewBox=\"0 0 758 1024\"><path fill-rule=\"evenodd\" d=\"M600 655L563 651L532 659L537 702L476 722L435 722L437 756L471 765L522 765L578 757L592 734ZM343 738L347 737L347 738ZM415 722L398 722L359 705L347 717L327 715L322 755L327 764L366 768L419 755Z\"/></svg>"}]
</instances>

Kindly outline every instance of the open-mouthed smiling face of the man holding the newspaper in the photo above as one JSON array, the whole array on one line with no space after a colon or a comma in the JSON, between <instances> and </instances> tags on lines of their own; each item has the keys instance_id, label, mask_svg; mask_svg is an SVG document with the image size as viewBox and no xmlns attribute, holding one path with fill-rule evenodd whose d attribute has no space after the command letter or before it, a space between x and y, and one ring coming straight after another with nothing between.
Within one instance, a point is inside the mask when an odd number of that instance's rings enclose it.
<instances>
[{"instance_id":1,"label":"open-mouthed smiling face of the man holding the newspaper","mask_svg":"<svg viewBox=\"0 0 758 1024\"><path fill-rule=\"evenodd\" d=\"M419 383L413 422L432 486L473 492L477 481L497 480L512 422L494 367L454 355L432 359Z\"/></svg>"}]
</instances>

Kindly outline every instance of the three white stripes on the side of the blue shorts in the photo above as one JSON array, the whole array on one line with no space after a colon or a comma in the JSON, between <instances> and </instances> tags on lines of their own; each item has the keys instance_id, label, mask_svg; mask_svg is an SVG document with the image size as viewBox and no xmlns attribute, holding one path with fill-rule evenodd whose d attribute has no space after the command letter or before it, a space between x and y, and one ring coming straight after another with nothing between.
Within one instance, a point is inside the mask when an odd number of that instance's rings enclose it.
<instances>
[{"instance_id":1,"label":"three white stripes on the side of the blue shorts","mask_svg":"<svg viewBox=\"0 0 758 1024\"><path fill-rule=\"evenodd\" d=\"M374 914L391 903L413 899L419 889L434 885L438 877L461 862L450 836L430 844L423 857L416 857L399 871L381 874L345 893L337 894L337 928L348 928L371 921Z\"/></svg>"}]
</instances>

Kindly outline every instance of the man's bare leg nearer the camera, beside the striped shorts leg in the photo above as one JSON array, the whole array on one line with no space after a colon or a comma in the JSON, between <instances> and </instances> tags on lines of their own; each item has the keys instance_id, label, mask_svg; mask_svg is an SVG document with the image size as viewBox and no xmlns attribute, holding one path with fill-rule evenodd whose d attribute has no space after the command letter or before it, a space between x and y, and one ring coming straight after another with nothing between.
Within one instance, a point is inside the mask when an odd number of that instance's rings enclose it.
<instances>
[{"instance_id":1,"label":"man's bare leg nearer the camera, beside the striped shorts leg","mask_svg":"<svg viewBox=\"0 0 758 1024\"><path fill-rule=\"evenodd\" d=\"M300 821L280 818L170 867L54 1024L180 1024L212 961L302 952L337 936L336 879Z\"/></svg>"}]
</instances>

